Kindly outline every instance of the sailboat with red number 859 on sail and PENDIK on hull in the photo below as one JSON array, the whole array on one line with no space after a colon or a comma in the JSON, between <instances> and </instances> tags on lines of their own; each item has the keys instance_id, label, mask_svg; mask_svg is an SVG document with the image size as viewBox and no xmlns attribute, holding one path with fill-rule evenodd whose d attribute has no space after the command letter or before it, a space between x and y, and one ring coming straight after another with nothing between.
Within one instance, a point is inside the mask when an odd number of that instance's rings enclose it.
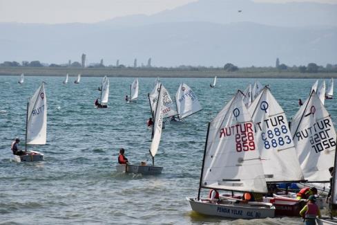
<instances>
[{"instance_id":1,"label":"sailboat with red number 859 on sail and PENDIK on hull","mask_svg":"<svg viewBox=\"0 0 337 225\"><path fill-rule=\"evenodd\" d=\"M198 197L187 198L192 210L204 215L236 219L274 217L275 207L270 203L247 203L223 195L217 203L200 198L202 188L267 192L253 127L251 116L243 102L243 93L238 91L209 123Z\"/></svg>"}]
</instances>

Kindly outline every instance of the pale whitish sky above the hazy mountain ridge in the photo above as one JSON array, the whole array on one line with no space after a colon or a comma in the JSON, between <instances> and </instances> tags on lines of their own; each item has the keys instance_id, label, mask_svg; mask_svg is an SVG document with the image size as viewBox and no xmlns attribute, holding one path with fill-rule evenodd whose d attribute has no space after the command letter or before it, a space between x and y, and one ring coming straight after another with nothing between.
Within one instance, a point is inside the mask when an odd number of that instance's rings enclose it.
<instances>
[{"instance_id":1,"label":"pale whitish sky above the hazy mountain ridge","mask_svg":"<svg viewBox=\"0 0 337 225\"><path fill-rule=\"evenodd\" d=\"M39 24L95 23L126 15L152 15L193 1L198 0L0 0L0 22ZM285 3L305 0L254 1ZM337 0L310 1L337 3Z\"/></svg>"}]
</instances>

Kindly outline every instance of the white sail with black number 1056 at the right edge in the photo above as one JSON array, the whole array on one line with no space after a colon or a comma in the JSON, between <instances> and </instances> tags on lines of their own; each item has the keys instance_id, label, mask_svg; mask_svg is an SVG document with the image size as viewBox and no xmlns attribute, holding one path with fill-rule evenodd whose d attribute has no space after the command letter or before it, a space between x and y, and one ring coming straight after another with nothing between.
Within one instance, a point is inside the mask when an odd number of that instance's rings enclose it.
<instances>
[{"instance_id":1,"label":"white sail with black number 1056 at the right edge","mask_svg":"<svg viewBox=\"0 0 337 225\"><path fill-rule=\"evenodd\" d=\"M291 134L306 180L329 181L334 164L336 132L331 116L315 91L291 121Z\"/></svg>"}]
</instances>

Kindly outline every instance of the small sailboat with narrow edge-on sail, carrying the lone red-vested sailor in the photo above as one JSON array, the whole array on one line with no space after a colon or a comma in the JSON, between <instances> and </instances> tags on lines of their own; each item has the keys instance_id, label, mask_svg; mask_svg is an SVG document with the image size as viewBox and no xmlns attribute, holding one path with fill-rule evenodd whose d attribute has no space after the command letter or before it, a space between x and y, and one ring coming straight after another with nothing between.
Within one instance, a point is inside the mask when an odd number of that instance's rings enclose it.
<instances>
[{"instance_id":1,"label":"small sailboat with narrow edge-on sail, carrying the lone red-vested sailor","mask_svg":"<svg viewBox=\"0 0 337 225\"><path fill-rule=\"evenodd\" d=\"M150 147L150 154L152 157L152 165L134 165L134 164L124 164L124 165L116 165L117 172L132 172L135 174L161 174L163 168L161 166L155 166L155 154L157 154L157 150L160 144L160 138L162 136L162 123L163 123L163 95L161 91L159 91L158 96L158 104L155 109L155 118L152 129L152 142Z\"/></svg>"}]
</instances>

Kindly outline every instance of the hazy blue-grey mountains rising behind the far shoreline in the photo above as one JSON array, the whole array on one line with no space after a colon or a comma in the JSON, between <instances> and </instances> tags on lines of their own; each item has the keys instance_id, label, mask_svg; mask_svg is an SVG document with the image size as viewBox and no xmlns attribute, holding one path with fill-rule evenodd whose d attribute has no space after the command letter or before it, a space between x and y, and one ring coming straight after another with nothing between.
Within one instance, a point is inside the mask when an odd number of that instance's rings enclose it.
<instances>
[{"instance_id":1,"label":"hazy blue-grey mountains rising behind the far shoreline","mask_svg":"<svg viewBox=\"0 0 337 225\"><path fill-rule=\"evenodd\" d=\"M242 10L242 12L238 12ZM200 0L156 15L97 24L0 24L0 62L40 60L156 66L337 62L337 5Z\"/></svg>"}]
</instances>

